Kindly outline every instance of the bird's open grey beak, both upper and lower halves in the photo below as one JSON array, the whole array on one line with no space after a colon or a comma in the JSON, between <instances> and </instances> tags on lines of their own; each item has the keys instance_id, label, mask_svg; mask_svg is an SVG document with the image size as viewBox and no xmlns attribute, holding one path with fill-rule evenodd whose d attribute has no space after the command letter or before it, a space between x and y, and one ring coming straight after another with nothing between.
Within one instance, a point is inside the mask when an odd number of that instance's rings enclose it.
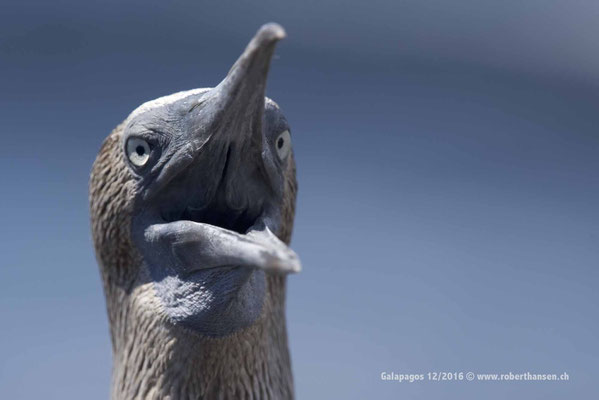
<instances>
[{"instance_id":1,"label":"bird's open grey beak, both upper and lower halves","mask_svg":"<svg viewBox=\"0 0 599 400\"><path fill-rule=\"evenodd\" d=\"M223 266L282 274L301 269L295 252L272 233L278 223L268 211L264 194L269 191L262 160L266 78L275 44L284 37L285 31L277 24L260 28L226 78L202 98L201 109L194 116L209 127L210 138L200 151L226 154L222 172L218 168L210 172L219 175L213 197L220 203L203 204L180 220L153 224L145 230L146 241L170 250L162 254L170 253L181 272ZM194 162L203 167L208 164ZM195 168L190 165L186 168ZM239 218L252 215L251 222L242 229L232 228L239 226L236 220L231 222L237 214L242 215ZM223 220L227 223L215 222Z\"/></svg>"}]
</instances>

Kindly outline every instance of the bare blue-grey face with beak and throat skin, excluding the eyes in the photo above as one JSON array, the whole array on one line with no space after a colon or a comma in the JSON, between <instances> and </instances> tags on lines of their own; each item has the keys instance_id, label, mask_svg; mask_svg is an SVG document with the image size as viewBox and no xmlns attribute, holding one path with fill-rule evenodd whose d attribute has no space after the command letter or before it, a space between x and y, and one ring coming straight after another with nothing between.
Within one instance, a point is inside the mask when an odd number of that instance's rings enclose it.
<instances>
[{"instance_id":1,"label":"bare blue-grey face with beak and throat skin, excluding the eyes","mask_svg":"<svg viewBox=\"0 0 599 400\"><path fill-rule=\"evenodd\" d=\"M265 271L299 270L295 253L272 234L291 157L280 151L287 121L264 97L281 38L275 28L258 32L216 88L144 105L124 128L126 158L129 140L150 149L143 165L128 159L138 179L133 242L169 319L206 336L259 318Z\"/></svg>"}]
</instances>

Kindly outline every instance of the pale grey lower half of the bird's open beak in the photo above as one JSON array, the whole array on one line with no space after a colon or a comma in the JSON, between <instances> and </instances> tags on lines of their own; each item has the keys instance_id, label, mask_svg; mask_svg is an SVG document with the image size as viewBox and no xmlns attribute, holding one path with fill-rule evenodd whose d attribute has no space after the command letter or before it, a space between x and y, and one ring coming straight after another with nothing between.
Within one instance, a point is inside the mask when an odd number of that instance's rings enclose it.
<instances>
[{"instance_id":1,"label":"pale grey lower half of the bird's open beak","mask_svg":"<svg viewBox=\"0 0 599 400\"><path fill-rule=\"evenodd\" d=\"M301 270L295 252L263 224L239 234L205 223L175 221L148 227L145 237L170 252L183 273L225 266L260 268L275 274Z\"/></svg>"}]
</instances>

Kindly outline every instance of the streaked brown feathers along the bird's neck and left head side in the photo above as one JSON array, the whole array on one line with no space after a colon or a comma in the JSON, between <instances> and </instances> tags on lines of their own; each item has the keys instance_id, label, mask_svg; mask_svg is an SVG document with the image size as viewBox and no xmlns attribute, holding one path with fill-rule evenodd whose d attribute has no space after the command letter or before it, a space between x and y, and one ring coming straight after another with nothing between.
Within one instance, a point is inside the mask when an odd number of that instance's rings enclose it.
<instances>
[{"instance_id":1,"label":"streaked brown feathers along the bird's neck and left head side","mask_svg":"<svg viewBox=\"0 0 599 400\"><path fill-rule=\"evenodd\" d=\"M291 399L286 278L268 276L261 317L221 338L173 325L130 241L134 187L119 157L121 127L104 142L90 181L92 235L113 349L113 399ZM292 209L287 219L292 221ZM289 240L291 223L282 236Z\"/></svg>"}]
</instances>

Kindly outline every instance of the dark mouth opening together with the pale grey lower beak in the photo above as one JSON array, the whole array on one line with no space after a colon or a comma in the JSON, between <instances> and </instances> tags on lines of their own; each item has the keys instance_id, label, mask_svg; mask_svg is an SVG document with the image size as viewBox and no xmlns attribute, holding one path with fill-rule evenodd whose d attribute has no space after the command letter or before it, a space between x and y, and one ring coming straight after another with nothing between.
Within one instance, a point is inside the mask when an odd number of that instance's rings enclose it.
<instances>
[{"instance_id":1,"label":"dark mouth opening together with the pale grey lower beak","mask_svg":"<svg viewBox=\"0 0 599 400\"><path fill-rule=\"evenodd\" d=\"M264 211L263 203L238 210L227 205L224 191L217 191L206 206L190 203L162 212L160 221L144 231L146 243L171 254L181 273L226 266L277 274L300 271L295 252L273 233L276 217Z\"/></svg>"}]
</instances>

